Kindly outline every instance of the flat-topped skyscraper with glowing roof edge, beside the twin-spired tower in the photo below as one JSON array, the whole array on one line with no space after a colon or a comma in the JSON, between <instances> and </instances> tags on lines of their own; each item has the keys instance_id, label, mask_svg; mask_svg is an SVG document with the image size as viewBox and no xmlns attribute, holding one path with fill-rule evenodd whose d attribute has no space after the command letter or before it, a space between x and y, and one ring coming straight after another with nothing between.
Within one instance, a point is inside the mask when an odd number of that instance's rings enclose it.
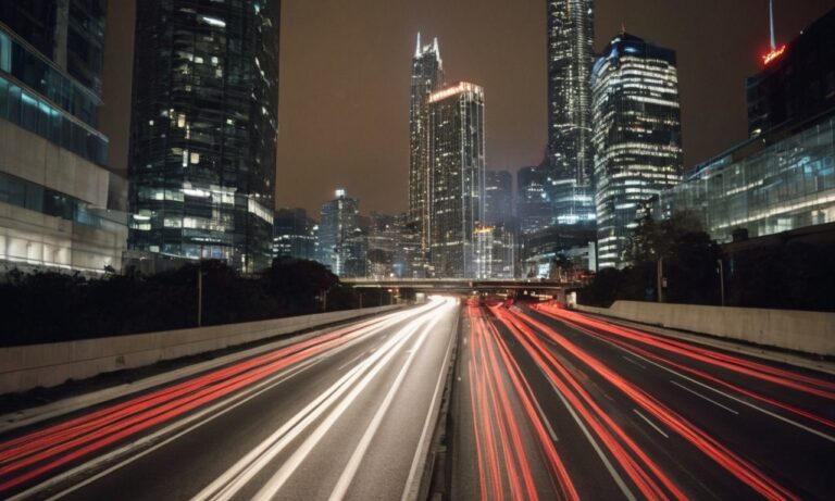
<instances>
[{"instance_id":1,"label":"flat-topped skyscraper with glowing roof edge, beside the twin-spired tower","mask_svg":"<svg viewBox=\"0 0 835 501\"><path fill-rule=\"evenodd\" d=\"M475 277L484 221L484 90L461 82L428 99L429 262L438 277Z\"/></svg>"}]
</instances>

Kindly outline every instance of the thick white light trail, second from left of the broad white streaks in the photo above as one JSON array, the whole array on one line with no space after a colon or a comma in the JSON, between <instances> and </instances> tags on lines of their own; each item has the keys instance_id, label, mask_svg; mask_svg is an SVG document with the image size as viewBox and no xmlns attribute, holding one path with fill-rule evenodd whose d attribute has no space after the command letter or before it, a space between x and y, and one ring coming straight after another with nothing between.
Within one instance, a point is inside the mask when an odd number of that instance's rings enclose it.
<instances>
[{"instance_id":1,"label":"thick white light trail, second from left of the broad white streaks","mask_svg":"<svg viewBox=\"0 0 835 501\"><path fill-rule=\"evenodd\" d=\"M313 430L313 433L294 450L292 454L287 461L282 464L277 472L261 487L261 489L252 498L257 501L272 500L273 497L281 490L287 479L296 472L301 463L307 459L308 454L313 448L322 440L322 438L331 430L334 424L342 416L345 411L357 400L365 388L372 383L377 374L391 361L398 351L411 339L414 333L418 331L423 322L413 321L414 325L410 325L407 329L403 329L400 336L402 340L398 342L392 349L388 350L384 356L382 356L376 364L365 374L365 376L356 385L351 391L346 394L341 401L334 408L325 419ZM298 430L296 435L300 435L302 429ZM294 437L295 438L295 437ZM272 459L272 458L271 458Z\"/></svg>"}]
</instances>

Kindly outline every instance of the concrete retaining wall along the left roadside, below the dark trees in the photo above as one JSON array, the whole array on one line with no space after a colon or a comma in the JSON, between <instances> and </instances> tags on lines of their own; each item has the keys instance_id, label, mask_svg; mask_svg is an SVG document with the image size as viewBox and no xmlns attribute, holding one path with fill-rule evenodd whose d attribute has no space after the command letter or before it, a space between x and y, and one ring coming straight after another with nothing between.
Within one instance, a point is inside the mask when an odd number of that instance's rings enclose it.
<instances>
[{"instance_id":1,"label":"concrete retaining wall along the left roadside, below the dark trees","mask_svg":"<svg viewBox=\"0 0 835 501\"><path fill-rule=\"evenodd\" d=\"M0 393L141 367L161 360L220 350L398 308L366 308L245 324L0 348Z\"/></svg>"}]
</instances>

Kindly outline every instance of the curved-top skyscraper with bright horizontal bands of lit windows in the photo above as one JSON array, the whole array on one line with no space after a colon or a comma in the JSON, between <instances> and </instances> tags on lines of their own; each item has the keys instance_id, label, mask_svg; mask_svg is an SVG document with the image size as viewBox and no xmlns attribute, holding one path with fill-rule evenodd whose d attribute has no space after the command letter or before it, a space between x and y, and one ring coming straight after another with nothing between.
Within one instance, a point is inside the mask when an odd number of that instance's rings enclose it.
<instances>
[{"instance_id":1,"label":"curved-top skyscraper with bright horizontal bands of lit windows","mask_svg":"<svg viewBox=\"0 0 835 501\"><path fill-rule=\"evenodd\" d=\"M621 34L591 77L598 265L624 264L639 205L683 172L675 51Z\"/></svg>"}]
</instances>

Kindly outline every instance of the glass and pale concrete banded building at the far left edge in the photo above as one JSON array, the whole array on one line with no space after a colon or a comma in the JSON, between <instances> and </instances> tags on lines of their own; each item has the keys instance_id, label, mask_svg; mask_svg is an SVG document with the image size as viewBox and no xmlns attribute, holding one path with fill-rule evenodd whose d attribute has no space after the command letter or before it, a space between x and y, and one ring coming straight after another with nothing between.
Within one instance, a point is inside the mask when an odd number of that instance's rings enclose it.
<instances>
[{"instance_id":1,"label":"glass and pale concrete banded building at the far left edge","mask_svg":"<svg viewBox=\"0 0 835 501\"><path fill-rule=\"evenodd\" d=\"M0 262L119 271L125 179L98 130L104 0L0 2Z\"/></svg>"}]
</instances>

